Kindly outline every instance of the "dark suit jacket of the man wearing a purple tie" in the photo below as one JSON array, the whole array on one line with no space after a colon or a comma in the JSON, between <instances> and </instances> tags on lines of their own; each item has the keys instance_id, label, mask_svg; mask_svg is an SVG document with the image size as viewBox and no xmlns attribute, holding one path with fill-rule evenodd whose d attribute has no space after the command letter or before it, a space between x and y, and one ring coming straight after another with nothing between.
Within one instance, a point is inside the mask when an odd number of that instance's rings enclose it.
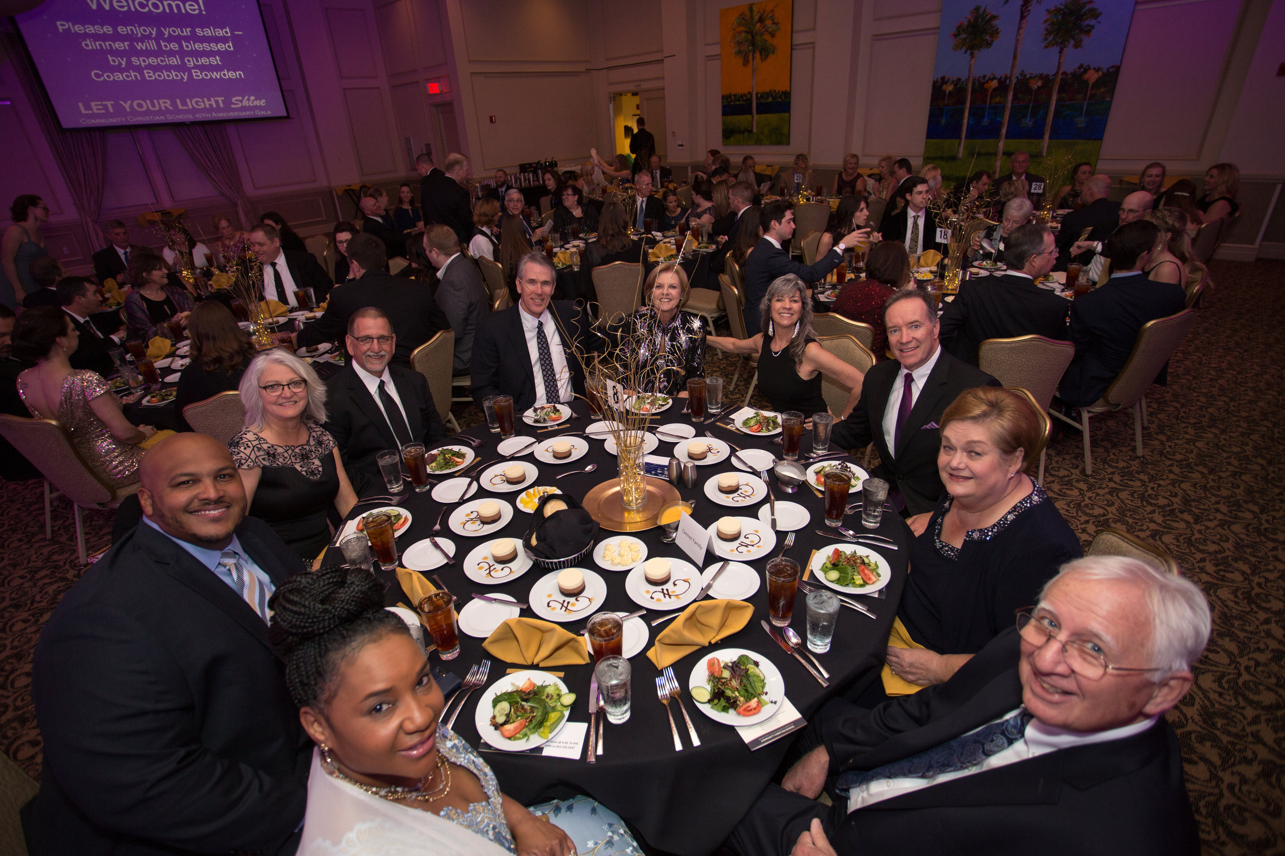
<instances>
[{"instance_id":1,"label":"dark suit jacket of the man wearing a purple tie","mask_svg":"<svg viewBox=\"0 0 1285 856\"><path fill-rule=\"evenodd\" d=\"M889 449L883 431L883 416L901 372L901 363L896 359L875 363L861 384L861 398L856 407L848 413L848 418L834 426L833 439L842 449L855 449L873 441L879 450L879 466L873 475L901 490L907 512L921 515L932 511L937 506L937 498L942 495L942 479L937 472L937 452L941 447L938 422L942 413L965 389L1001 384L980 368L955 359L943 349L910 411L901 445Z\"/></svg>"}]
</instances>

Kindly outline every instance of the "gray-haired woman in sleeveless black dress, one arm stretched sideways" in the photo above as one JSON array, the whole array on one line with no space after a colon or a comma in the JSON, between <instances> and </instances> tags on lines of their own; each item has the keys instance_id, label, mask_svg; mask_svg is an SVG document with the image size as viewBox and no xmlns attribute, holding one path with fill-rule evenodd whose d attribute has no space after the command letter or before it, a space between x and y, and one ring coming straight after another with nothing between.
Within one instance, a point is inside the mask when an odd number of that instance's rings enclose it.
<instances>
[{"instance_id":1,"label":"gray-haired woman in sleeveless black dress, one arm stretched sideways","mask_svg":"<svg viewBox=\"0 0 1285 856\"><path fill-rule=\"evenodd\" d=\"M730 354L758 354L758 389L777 413L798 411L807 417L828 413L821 395L821 376L831 377L852 391L837 418L846 418L861 397L862 375L816 340L812 330L812 298L807 284L793 273L767 286L758 304L761 332L749 339L708 336L705 341Z\"/></svg>"}]
</instances>

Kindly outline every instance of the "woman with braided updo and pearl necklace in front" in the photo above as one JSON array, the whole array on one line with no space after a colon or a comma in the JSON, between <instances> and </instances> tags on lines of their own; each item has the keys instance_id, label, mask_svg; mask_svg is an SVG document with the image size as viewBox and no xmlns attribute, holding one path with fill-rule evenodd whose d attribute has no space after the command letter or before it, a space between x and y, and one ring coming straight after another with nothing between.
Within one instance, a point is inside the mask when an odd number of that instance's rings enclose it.
<instances>
[{"instance_id":1,"label":"woman with braided updo and pearl necklace in front","mask_svg":"<svg viewBox=\"0 0 1285 856\"><path fill-rule=\"evenodd\" d=\"M528 811L504 796L442 725L428 658L383 602L383 586L348 567L298 574L269 602L272 647L317 744L301 856L569 856L576 842L581 853L641 853L587 797ZM555 807L556 826L542 816Z\"/></svg>"}]
</instances>

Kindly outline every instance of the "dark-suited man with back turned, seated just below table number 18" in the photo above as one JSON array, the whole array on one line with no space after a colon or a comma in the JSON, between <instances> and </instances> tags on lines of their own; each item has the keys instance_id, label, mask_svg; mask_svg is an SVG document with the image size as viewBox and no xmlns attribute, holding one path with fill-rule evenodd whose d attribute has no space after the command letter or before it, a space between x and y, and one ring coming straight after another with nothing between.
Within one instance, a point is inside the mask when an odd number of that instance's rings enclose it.
<instances>
[{"instance_id":1,"label":"dark-suited man with back turned, seated just below table number 18","mask_svg":"<svg viewBox=\"0 0 1285 856\"><path fill-rule=\"evenodd\" d=\"M953 357L977 366L977 349L987 339L1038 334L1067 339L1070 300L1036 282L1058 261L1047 226L1018 226L1004 245L1009 270L1004 276L983 276L960 286L942 313L942 347Z\"/></svg>"}]
</instances>

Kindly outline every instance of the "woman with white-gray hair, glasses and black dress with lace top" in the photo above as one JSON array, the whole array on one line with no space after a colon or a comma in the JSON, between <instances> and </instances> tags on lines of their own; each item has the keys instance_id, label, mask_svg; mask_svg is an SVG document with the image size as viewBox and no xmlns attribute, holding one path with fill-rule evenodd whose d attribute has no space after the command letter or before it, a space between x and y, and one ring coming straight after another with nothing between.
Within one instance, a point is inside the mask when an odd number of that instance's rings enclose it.
<instances>
[{"instance_id":1,"label":"woman with white-gray hair, glasses and black dress with lace top","mask_svg":"<svg viewBox=\"0 0 1285 856\"><path fill-rule=\"evenodd\" d=\"M288 350L265 350L240 382L245 430L227 444L240 470L249 513L272 527L306 562L330 540L330 507L344 517L357 495L339 448L321 427L325 384Z\"/></svg>"}]
</instances>

